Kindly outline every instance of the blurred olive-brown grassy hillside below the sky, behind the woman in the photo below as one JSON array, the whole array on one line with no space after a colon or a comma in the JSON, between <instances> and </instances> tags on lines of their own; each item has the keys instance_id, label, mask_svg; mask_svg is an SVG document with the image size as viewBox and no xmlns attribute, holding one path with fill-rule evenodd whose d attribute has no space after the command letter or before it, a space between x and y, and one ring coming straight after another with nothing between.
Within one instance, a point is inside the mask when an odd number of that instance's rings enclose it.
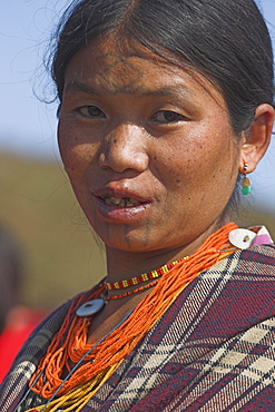
<instances>
[{"instance_id":1,"label":"blurred olive-brown grassy hillside below the sky, behind the woman","mask_svg":"<svg viewBox=\"0 0 275 412\"><path fill-rule=\"evenodd\" d=\"M0 193L0 224L22 249L23 303L51 310L104 277L104 251L61 166L1 155ZM265 224L275 237L274 215L240 215L246 225Z\"/></svg>"}]
</instances>

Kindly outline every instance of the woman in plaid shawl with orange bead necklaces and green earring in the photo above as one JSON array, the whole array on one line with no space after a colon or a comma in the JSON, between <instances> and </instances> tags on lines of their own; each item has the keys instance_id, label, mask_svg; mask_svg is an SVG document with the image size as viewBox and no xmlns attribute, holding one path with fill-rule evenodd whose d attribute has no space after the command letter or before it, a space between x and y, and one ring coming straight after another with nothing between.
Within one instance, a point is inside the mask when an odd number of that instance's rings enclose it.
<instances>
[{"instance_id":1,"label":"woman in plaid shawl with orange bead necklaces and green earring","mask_svg":"<svg viewBox=\"0 0 275 412\"><path fill-rule=\"evenodd\" d=\"M1 411L274 410L274 245L230 223L274 120L254 1L76 1L52 76L108 273L29 339Z\"/></svg>"}]
</instances>

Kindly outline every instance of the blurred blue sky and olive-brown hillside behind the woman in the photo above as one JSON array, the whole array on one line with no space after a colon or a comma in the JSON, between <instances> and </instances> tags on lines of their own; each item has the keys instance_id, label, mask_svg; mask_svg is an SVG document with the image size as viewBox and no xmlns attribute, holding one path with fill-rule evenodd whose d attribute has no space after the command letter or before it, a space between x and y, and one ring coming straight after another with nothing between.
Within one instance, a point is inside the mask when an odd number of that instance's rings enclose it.
<instances>
[{"instance_id":1,"label":"blurred blue sky and olive-brown hillside behind the woman","mask_svg":"<svg viewBox=\"0 0 275 412\"><path fill-rule=\"evenodd\" d=\"M259 4L275 43L275 0ZM42 59L66 6L65 0L9 0L0 6L0 228L16 238L20 251L20 302L46 311L105 275L102 247L60 163L57 105L46 104L53 92ZM265 224L273 237L274 139L252 176L253 195L239 215L244 224Z\"/></svg>"}]
</instances>

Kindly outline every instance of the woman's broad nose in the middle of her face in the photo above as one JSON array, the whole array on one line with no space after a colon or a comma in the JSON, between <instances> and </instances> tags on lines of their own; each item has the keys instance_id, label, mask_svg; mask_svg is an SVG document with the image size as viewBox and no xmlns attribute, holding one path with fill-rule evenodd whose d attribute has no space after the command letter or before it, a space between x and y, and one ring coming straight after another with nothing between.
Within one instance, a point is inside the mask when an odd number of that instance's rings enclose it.
<instances>
[{"instance_id":1,"label":"woman's broad nose in the middle of her face","mask_svg":"<svg viewBox=\"0 0 275 412\"><path fill-rule=\"evenodd\" d=\"M149 161L144 140L141 128L135 125L120 125L104 139L99 166L116 173L128 169L144 171Z\"/></svg>"}]
</instances>

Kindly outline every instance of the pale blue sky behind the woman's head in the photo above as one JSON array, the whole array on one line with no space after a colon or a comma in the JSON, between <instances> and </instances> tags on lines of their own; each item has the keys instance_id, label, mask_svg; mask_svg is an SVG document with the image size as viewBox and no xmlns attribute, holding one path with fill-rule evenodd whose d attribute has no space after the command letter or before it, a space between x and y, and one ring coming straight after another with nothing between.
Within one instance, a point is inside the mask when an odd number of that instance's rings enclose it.
<instances>
[{"instance_id":1,"label":"pale blue sky behind the woman's head","mask_svg":"<svg viewBox=\"0 0 275 412\"><path fill-rule=\"evenodd\" d=\"M226 1L226 0L224 0ZM0 4L0 150L59 159L56 105L38 100L39 72L49 32L68 0L2 0ZM275 0L261 0L275 50ZM252 176L254 199L275 213L275 136Z\"/></svg>"}]
</instances>

